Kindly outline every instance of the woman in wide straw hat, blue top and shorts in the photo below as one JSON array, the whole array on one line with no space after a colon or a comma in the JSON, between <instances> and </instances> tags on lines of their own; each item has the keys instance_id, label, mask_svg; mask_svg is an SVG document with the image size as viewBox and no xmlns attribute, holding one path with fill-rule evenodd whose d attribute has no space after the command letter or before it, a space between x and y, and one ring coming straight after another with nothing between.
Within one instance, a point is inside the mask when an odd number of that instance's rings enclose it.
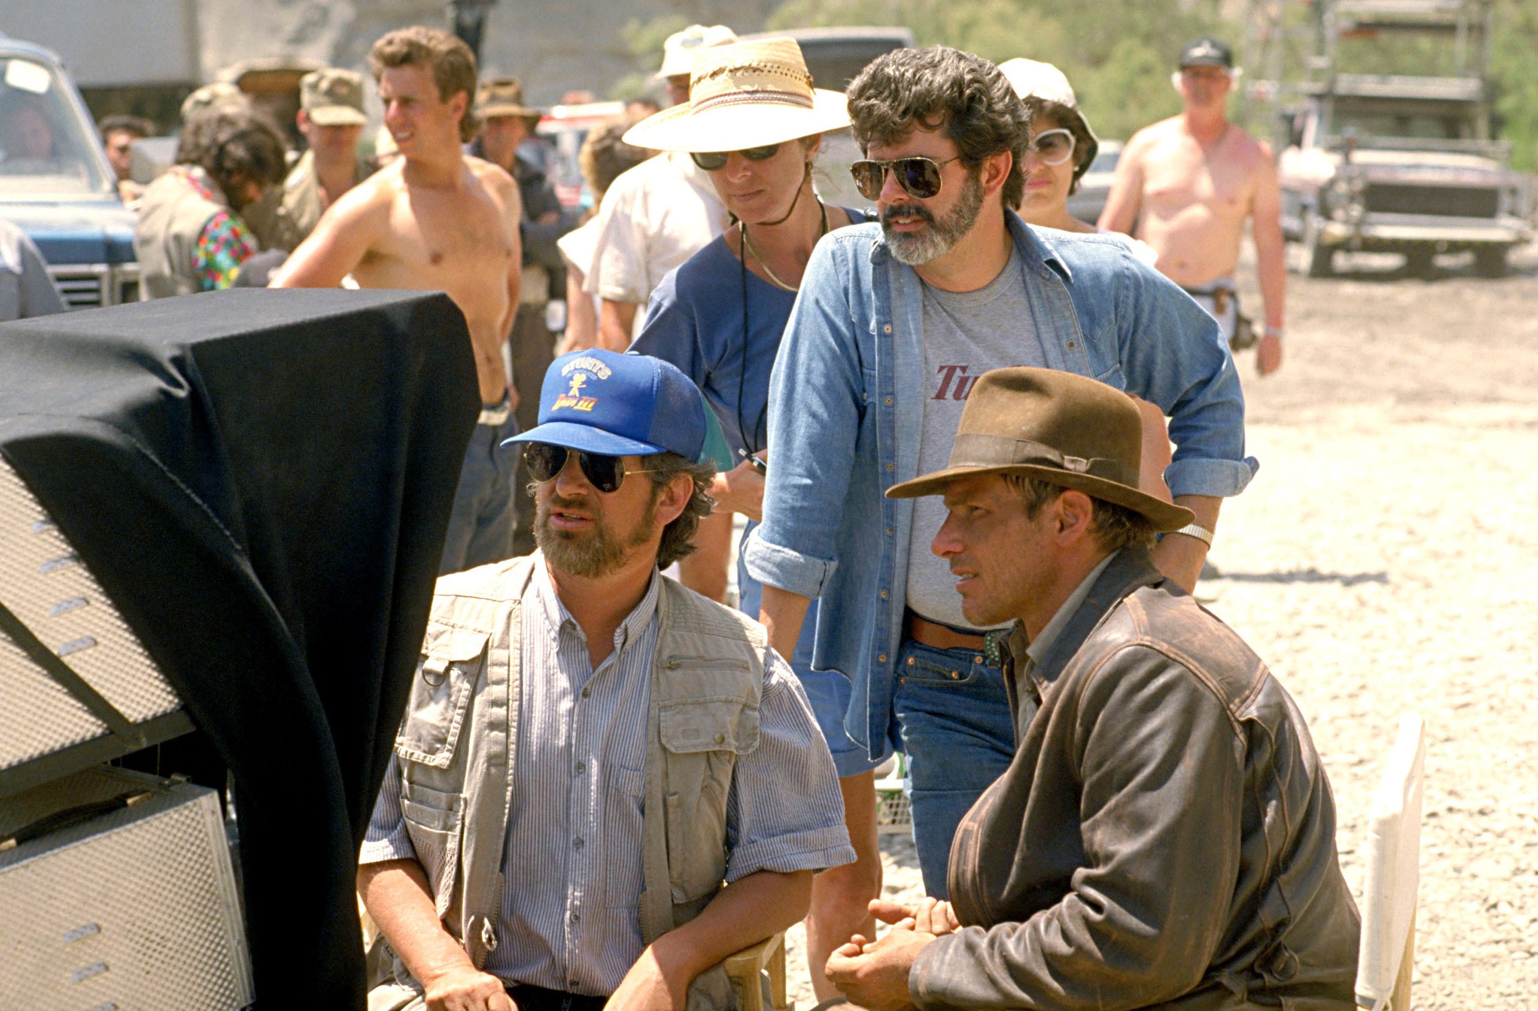
<instances>
[{"instance_id":1,"label":"woman in wide straw hat, blue top and shorts","mask_svg":"<svg viewBox=\"0 0 1538 1011\"><path fill-rule=\"evenodd\" d=\"M774 466L764 446L769 372L801 272L824 234L866 220L860 211L823 205L812 188L823 132L846 126L843 94L812 86L801 48L791 38L763 38L703 52L689 102L624 135L641 148L689 152L732 214L720 239L663 279L632 351L672 362L704 392L741 460L717 475L712 494L721 509L751 520L760 519L764 460ZM758 617L763 588L741 565L738 586L738 606ZM823 977L827 956L851 934L874 936L866 903L880 893L881 860L877 763L844 732L849 679L812 671L815 626L809 614L791 665L834 754L858 854L812 885L807 963L818 999L827 999L837 993Z\"/></svg>"}]
</instances>

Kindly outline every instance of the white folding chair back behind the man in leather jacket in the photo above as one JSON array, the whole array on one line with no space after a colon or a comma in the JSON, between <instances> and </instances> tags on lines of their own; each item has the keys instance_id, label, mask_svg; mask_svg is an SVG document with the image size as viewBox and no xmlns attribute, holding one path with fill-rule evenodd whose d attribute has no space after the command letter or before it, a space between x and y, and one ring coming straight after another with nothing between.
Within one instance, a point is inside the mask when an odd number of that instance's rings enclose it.
<instances>
[{"instance_id":1,"label":"white folding chair back behind the man in leather jacket","mask_svg":"<svg viewBox=\"0 0 1538 1011\"><path fill-rule=\"evenodd\" d=\"M1410 1011L1424 765L1426 722L1413 712L1401 716L1367 825L1357 1003L1369 1011Z\"/></svg>"}]
</instances>

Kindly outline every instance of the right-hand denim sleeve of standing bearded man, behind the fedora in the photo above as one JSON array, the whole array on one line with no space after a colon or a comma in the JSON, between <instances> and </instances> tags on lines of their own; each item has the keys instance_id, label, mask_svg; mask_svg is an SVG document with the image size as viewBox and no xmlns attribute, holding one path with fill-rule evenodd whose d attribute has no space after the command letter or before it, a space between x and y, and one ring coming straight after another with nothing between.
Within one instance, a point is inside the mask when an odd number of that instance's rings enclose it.
<instances>
[{"instance_id":1,"label":"right-hand denim sleeve of standing bearded man, behind the fedora","mask_svg":"<svg viewBox=\"0 0 1538 1011\"><path fill-rule=\"evenodd\" d=\"M1127 392L1169 415L1173 495L1229 497L1260 463L1244 455L1244 391L1217 320L1167 277L1132 255L1117 312Z\"/></svg>"}]
</instances>

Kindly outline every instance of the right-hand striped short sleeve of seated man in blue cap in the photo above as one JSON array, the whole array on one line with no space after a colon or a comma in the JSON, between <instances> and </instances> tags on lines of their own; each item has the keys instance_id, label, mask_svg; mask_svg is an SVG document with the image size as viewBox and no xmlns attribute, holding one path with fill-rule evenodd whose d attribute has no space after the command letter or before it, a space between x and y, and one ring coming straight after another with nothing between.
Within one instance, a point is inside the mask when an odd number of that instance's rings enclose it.
<instances>
[{"instance_id":1,"label":"right-hand striped short sleeve of seated man in blue cap","mask_svg":"<svg viewBox=\"0 0 1538 1011\"><path fill-rule=\"evenodd\" d=\"M827 742L791 665L764 651L758 746L737 760L726 805L727 883L854 863Z\"/></svg>"}]
</instances>

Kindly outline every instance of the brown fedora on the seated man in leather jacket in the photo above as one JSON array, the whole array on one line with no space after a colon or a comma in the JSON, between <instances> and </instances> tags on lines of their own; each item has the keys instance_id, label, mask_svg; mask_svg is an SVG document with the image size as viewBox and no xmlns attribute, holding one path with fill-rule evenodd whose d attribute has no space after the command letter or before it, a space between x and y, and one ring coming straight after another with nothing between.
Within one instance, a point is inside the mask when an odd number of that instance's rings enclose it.
<instances>
[{"instance_id":1,"label":"brown fedora on the seated man in leather jacket","mask_svg":"<svg viewBox=\"0 0 1538 1011\"><path fill-rule=\"evenodd\" d=\"M1160 532L1197 522L1178 505L1138 491L1143 420L1132 399L1057 369L983 372L950 448L950 465L886 489L889 499L944 494L975 474L1027 474L1146 516Z\"/></svg>"}]
</instances>

